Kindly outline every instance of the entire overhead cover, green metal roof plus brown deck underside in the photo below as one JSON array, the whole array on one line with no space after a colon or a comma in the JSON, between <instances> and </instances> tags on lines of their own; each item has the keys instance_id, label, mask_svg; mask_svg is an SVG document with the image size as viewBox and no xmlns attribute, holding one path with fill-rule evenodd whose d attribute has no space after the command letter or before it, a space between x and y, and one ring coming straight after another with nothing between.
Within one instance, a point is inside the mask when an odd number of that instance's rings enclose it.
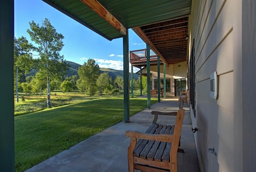
<instances>
[{"instance_id":1,"label":"entire overhead cover, green metal roof plus brown deck underside","mask_svg":"<svg viewBox=\"0 0 256 172\"><path fill-rule=\"evenodd\" d=\"M167 65L186 61L192 0L43 0L108 40L133 30Z\"/></svg>"}]
</instances>

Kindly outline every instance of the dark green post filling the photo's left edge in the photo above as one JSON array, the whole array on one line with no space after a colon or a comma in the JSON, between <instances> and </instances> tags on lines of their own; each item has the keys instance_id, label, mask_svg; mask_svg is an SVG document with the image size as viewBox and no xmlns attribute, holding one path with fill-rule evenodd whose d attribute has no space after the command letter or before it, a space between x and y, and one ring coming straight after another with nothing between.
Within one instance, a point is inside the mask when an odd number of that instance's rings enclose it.
<instances>
[{"instance_id":1,"label":"dark green post filling the photo's left edge","mask_svg":"<svg viewBox=\"0 0 256 172\"><path fill-rule=\"evenodd\" d=\"M0 171L14 172L14 0L0 7Z\"/></svg>"}]
</instances>

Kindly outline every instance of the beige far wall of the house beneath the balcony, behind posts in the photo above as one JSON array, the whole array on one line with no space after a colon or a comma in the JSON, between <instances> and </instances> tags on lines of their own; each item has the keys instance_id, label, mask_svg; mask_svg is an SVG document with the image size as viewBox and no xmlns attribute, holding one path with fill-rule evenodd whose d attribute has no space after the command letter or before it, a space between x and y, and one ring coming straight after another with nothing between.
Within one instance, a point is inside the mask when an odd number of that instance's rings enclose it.
<instances>
[{"instance_id":1,"label":"beige far wall of the house beneath the balcony, behind posts","mask_svg":"<svg viewBox=\"0 0 256 172\"><path fill-rule=\"evenodd\" d=\"M157 79L157 66L150 66L152 74L152 87L154 88L154 80ZM144 68L142 73L147 73L147 69ZM164 69L163 65L160 65L160 79L163 79ZM166 92L166 96L174 96L174 79L187 78L187 62L181 62L177 64L166 66L166 79L170 79L171 92Z\"/></svg>"}]
</instances>

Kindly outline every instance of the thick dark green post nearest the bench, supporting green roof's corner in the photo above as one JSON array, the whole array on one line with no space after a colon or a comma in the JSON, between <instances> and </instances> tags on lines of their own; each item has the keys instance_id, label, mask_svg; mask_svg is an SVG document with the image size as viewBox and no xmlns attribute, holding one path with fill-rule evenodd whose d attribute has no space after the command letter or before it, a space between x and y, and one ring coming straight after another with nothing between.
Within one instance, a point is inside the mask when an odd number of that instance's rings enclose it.
<instances>
[{"instance_id":1,"label":"thick dark green post nearest the bench, supporting green roof's corner","mask_svg":"<svg viewBox=\"0 0 256 172\"><path fill-rule=\"evenodd\" d=\"M124 53L124 122L130 122L128 29L126 29L126 35L123 36L123 53Z\"/></svg>"}]
</instances>

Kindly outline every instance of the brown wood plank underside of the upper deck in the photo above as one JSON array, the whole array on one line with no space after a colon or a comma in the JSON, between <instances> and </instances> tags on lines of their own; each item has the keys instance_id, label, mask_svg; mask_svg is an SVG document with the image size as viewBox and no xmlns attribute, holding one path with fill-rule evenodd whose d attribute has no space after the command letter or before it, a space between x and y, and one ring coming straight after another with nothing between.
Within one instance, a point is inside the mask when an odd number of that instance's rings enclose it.
<instances>
[{"instance_id":1,"label":"brown wood plank underside of the upper deck","mask_svg":"<svg viewBox=\"0 0 256 172\"><path fill-rule=\"evenodd\" d=\"M134 28L134 31L141 36L142 31L153 45L153 50L164 58L167 64L176 64L187 60L188 47L188 16L182 16L171 20L149 24ZM156 54L158 54L156 53Z\"/></svg>"}]
</instances>

